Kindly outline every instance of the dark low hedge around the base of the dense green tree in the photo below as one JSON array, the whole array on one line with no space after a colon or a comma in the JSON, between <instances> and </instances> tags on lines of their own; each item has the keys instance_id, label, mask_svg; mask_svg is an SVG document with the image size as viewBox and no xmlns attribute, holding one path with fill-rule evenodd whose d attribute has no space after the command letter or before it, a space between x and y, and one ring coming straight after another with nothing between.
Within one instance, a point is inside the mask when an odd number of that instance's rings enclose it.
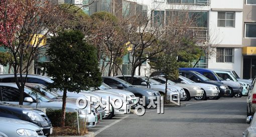
<instances>
[{"instance_id":1,"label":"dark low hedge around the base of the dense green tree","mask_svg":"<svg viewBox=\"0 0 256 137\"><path fill-rule=\"evenodd\" d=\"M46 115L52 122L52 126L58 127L61 125L61 109L47 109ZM66 112L65 126L77 126L76 112Z\"/></svg>"}]
</instances>

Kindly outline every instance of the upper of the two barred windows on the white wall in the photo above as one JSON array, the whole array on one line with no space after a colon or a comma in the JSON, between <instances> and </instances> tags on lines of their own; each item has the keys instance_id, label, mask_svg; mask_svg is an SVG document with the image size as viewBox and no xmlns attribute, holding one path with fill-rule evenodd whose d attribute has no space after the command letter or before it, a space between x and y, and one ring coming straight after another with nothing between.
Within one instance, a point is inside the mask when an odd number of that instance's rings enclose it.
<instances>
[{"instance_id":1,"label":"upper of the two barred windows on the white wall","mask_svg":"<svg viewBox=\"0 0 256 137\"><path fill-rule=\"evenodd\" d=\"M235 12L218 12L219 27L235 27Z\"/></svg>"}]
</instances>

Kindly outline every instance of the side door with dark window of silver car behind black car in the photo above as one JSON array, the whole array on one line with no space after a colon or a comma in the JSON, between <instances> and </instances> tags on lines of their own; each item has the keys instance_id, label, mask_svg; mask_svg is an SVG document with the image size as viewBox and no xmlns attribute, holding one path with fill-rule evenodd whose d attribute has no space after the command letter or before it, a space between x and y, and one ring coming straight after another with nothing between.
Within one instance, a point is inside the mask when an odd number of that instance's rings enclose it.
<instances>
[{"instance_id":1,"label":"side door with dark window of silver car behind black car","mask_svg":"<svg viewBox=\"0 0 256 137\"><path fill-rule=\"evenodd\" d=\"M1 91L1 101L13 104L19 104L20 99L20 91L15 87L10 86L0 86ZM27 93L24 92L24 97L30 97ZM33 99L34 100L34 99ZM23 105L29 105L34 107L36 100L34 102L23 102Z\"/></svg>"}]
</instances>

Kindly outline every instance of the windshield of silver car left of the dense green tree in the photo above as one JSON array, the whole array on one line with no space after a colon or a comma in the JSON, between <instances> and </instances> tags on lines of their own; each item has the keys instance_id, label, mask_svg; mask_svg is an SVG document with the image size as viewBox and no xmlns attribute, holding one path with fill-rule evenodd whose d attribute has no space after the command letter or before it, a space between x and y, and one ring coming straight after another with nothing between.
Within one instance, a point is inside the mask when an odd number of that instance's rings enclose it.
<instances>
[{"instance_id":1,"label":"windshield of silver car left of the dense green tree","mask_svg":"<svg viewBox=\"0 0 256 137\"><path fill-rule=\"evenodd\" d=\"M26 87L26 88L24 88L24 90L29 95L33 96L34 98L37 98L38 100L40 100L42 102L51 102L52 101L50 98L46 97L46 94L44 94L44 92L38 91L37 88Z\"/></svg>"}]
</instances>

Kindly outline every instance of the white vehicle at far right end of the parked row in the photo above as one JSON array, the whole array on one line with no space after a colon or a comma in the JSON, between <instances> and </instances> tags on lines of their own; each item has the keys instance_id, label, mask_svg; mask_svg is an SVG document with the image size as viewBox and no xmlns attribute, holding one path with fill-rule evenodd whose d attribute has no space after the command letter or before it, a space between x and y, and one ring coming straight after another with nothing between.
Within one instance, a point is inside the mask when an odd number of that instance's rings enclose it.
<instances>
[{"instance_id":1,"label":"white vehicle at far right end of the parked row","mask_svg":"<svg viewBox=\"0 0 256 137\"><path fill-rule=\"evenodd\" d=\"M241 81L238 81L234 76L233 74L231 74L230 72L226 72L226 71L216 71L216 70L213 70L219 77L229 81L235 81L235 82L238 82L240 83L240 85L242 86L242 92L241 93L236 93L234 96L235 97L241 97L242 95L247 95L248 94L248 90L249 87L250 87L250 84L247 84L245 82L241 82Z\"/></svg>"}]
</instances>

